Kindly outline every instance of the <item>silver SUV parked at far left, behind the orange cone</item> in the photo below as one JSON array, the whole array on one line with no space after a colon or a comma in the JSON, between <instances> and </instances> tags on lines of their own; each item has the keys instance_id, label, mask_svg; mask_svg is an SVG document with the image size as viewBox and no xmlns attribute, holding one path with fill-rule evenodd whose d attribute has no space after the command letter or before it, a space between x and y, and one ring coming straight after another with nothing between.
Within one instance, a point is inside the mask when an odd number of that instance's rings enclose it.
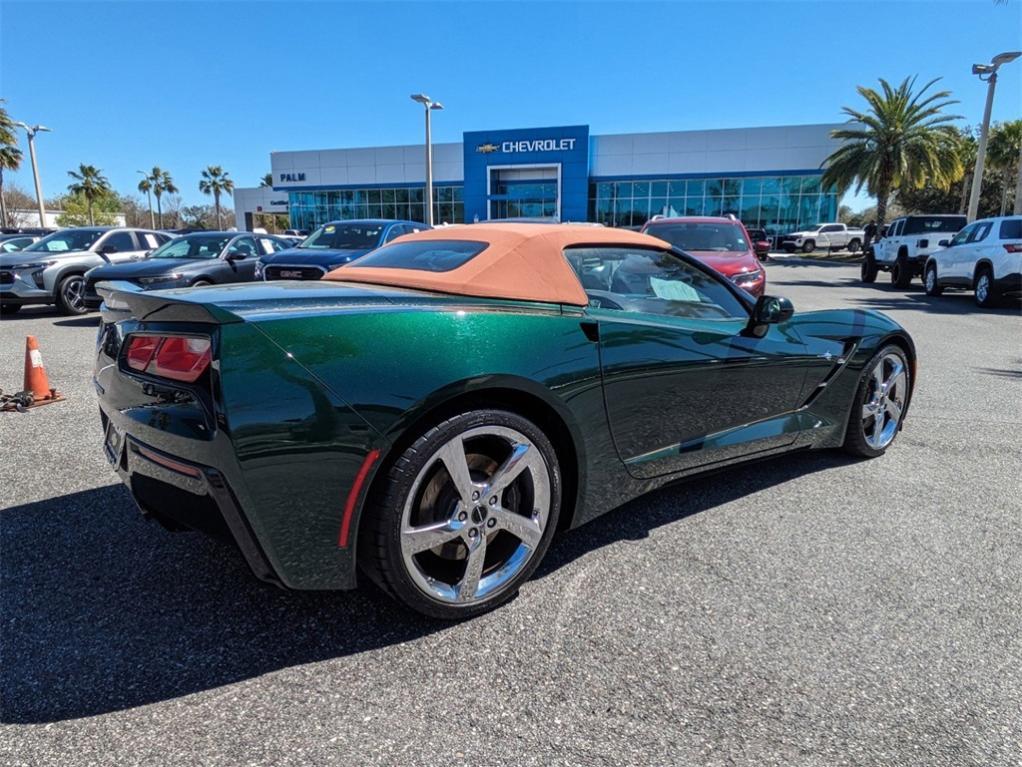
<instances>
[{"instance_id":1,"label":"silver SUV parked at far left, behind the orange cone","mask_svg":"<svg viewBox=\"0 0 1022 767\"><path fill-rule=\"evenodd\" d=\"M149 229L89 226L61 229L24 251L0 255L0 314L30 304L56 304L63 314L85 314L87 271L138 261L169 239Z\"/></svg>"}]
</instances>

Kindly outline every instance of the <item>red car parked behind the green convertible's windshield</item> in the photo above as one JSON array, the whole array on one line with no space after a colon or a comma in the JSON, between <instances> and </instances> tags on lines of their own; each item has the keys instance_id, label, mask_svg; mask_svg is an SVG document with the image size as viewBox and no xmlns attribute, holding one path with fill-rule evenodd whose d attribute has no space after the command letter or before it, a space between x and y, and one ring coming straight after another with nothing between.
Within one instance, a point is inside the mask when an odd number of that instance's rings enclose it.
<instances>
[{"instance_id":1,"label":"red car parked behind the green convertible's windshield","mask_svg":"<svg viewBox=\"0 0 1022 767\"><path fill-rule=\"evenodd\" d=\"M663 218L648 222L642 230L695 256L755 298L763 295L766 272L741 221L723 216Z\"/></svg>"}]
</instances>

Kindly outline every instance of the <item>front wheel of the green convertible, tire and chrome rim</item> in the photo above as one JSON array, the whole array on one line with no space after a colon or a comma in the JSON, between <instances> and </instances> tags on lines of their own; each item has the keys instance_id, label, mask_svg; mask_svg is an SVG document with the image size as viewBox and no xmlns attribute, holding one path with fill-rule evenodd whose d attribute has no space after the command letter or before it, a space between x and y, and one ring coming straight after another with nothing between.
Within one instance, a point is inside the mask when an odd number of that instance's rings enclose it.
<instances>
[{"instance_id":1,"label":"front wheel of the green convertible, tire and chrome rim","mask_svg":"<svg viewBox=\"0 0 1022 767\"><path fill-rule=\"evenodd\" d=\"M894 442L909 402L909 360L900 347L881 349L869 364L855 390L848 417L844 450L875 458Z\"/></svg>"}]
</instances>

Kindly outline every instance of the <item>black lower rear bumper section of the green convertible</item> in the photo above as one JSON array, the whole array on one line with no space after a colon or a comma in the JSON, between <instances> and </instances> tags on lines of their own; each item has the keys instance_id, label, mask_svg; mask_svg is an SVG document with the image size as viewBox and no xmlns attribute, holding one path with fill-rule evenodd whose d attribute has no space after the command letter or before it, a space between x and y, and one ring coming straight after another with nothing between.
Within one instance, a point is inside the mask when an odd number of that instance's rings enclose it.
<instances>
[{"instance_id":1,"label":"black lower rear bumper section of the green convertible","mask_svg":"<svg viewBox=\"0 0 1022 767\"><path fill-rule=\"evenodd\" d=\"M100 415L106 459L144 515L171 530L188 528L233 541L257 578L283 586L219 469L146 445L102 407Z\"/></svg>"}]
</instances>

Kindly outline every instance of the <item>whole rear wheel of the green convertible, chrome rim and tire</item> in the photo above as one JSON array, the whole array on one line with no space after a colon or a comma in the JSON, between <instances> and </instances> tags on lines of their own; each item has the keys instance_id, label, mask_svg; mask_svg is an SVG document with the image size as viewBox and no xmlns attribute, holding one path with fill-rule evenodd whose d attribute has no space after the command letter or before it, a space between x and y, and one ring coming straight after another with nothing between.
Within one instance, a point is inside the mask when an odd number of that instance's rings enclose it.
<instances>
[{"instance_id":1,"label":"whole rear wheel of the green convertible, chrome rim and tire","mask_svg":"<svg viewBox=\"0 0 1022 767\"><path fill-rule=\"evenodd\" d=\"M394 461L367 506L360 561L409 607L469 618L532 574L560 502L557 455L535 423L504 410L462 413Z\"/></svg>"}]
</instances>

